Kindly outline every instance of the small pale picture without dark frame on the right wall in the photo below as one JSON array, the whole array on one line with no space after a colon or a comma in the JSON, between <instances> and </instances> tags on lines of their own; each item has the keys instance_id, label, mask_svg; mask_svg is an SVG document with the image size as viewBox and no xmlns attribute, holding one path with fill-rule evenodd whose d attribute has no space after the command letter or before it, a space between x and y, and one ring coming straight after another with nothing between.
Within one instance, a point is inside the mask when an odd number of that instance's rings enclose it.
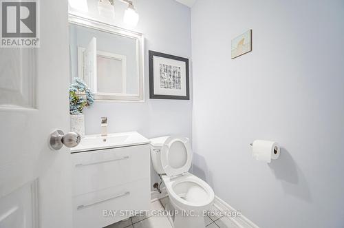
<instances>
[{"instance_id":1,"label":"small pale picture without dark frame on the right wall","mask_svg":"<svg viewBox=\"0 0 344 228\"><path fill-rule=\"evenodd\" d=\"M252 51L252 30L232 40L232 59Z\"/></svg>"}]
</instances>

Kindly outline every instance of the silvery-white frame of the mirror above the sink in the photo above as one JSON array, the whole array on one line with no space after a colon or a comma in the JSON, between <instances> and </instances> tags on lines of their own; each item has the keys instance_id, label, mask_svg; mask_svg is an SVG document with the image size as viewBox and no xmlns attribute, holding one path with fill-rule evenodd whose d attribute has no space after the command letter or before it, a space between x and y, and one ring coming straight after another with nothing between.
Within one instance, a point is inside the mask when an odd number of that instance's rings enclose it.
<instances>
[{"instance_id":1,"label":"silvery-white frame of the mirror above the sink","mask_svg":"<svg viewBox=\"0 0 344 228\"><path fill-rule=\"evenodd\" d=\"M101 32L117 34L122 37L136 39L136 65L138 66L138 94L111 94L103 92L94 92L96 101L144 101L144 34L125 30L114 25L94 21L85 17L79 17L69 13L68 21L70 24L80 25L86 28L92 28Z\"/></svg>"}]
</instances>

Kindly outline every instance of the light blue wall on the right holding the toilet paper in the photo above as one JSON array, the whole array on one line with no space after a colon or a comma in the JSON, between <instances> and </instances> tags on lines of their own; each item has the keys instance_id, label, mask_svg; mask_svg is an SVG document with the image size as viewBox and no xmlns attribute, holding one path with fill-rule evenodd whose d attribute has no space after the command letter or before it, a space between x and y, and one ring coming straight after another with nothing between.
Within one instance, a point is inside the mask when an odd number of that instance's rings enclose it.
<instances>
[{"instance_id":1,"label":"light blue wall on the right holding the toilet paper","mask_svg":"<svg viewBox=\"0 0 344 228\"><path fill-rule=\"evenodd\" d=\"M344 2L199 0L191 15L194 173L259 227L344 227ZM255 139L279 160L254 160Z\"/></svg>"}]
</instances>

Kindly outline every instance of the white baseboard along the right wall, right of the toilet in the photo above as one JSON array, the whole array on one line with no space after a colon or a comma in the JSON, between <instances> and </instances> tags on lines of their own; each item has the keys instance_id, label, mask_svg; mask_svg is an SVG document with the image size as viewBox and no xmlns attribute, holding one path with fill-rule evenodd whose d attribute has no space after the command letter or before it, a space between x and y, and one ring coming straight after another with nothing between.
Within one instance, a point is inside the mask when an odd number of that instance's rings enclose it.
<instances>
[{"instance_id":1,"label":"white baseboard along the right wall, right of the toilet","mask_svg":"<svg viewBox=\"0 0 344 228\"><path fill-rule=\"evenodd\" d=\"M236 209L228 205L228 203L224 202L224 200L222 200L218 196L215 196L214 207L216 207L220 211L237 211ZM248 218L246 218L242 214L241 216L237 216L237 217L227 216L227 218L232 220L232 222L234 222L235 225L237 225L237 227L239 228L259 228L257 225L255 225L255 223L250 221Z\"/></svg>"}]
</instances>

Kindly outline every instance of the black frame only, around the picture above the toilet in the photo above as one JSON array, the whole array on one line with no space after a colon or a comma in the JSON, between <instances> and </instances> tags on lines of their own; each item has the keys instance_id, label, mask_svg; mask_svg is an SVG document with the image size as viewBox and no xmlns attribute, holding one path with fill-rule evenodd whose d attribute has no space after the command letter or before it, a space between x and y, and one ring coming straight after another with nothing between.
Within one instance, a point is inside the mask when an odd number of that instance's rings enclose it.
<instances>
[{"instance_id":1,"label":"black frame only, around the picture above the toilet","mask_svg":"<svg viewBox=\"0 0 344 228\"><path fill-rule=\"evenodd\" d=\"M185 62L186 67L186 96L175 96L175 95L162 95L154 94L154 65L153 57L160 56L166 59L173 59L177 61ZM174 56L171 54L164 54L161 52L155 52L149 50L149 99L174 99L174 100L190 100L190 80L189 80L189 59L182 58L180 56Z\"/></svg>"}]
</instances>

